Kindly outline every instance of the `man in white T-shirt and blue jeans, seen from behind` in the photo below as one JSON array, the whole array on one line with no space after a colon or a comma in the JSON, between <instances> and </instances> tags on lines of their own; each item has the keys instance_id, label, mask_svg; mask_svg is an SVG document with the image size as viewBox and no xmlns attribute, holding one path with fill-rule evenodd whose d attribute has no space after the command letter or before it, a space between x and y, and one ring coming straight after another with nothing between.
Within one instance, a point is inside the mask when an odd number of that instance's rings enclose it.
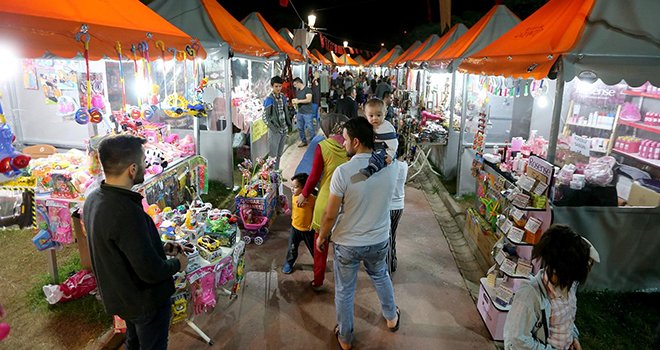
<instances>
[{"instance_id":1,"label":"man in white T-shirt and blue jeans, seen from behind","mask_svg":"<svg viewBox=\"0 0 660 350\"><path fill-rule=\"evenodd\" d=\"M322 250L332 230L334 242L335 334L342 349L353 340L355 287L360 262L374 284L387 327L399 329L399 309L386 262L389 250L390 203L396 167L385 167L371 177L359 173L369 164L374 146L373 126L365 118L344 124L344 148L351 158L335 169L330 196L316 246Z\"/></svg>"}]
</instances>

